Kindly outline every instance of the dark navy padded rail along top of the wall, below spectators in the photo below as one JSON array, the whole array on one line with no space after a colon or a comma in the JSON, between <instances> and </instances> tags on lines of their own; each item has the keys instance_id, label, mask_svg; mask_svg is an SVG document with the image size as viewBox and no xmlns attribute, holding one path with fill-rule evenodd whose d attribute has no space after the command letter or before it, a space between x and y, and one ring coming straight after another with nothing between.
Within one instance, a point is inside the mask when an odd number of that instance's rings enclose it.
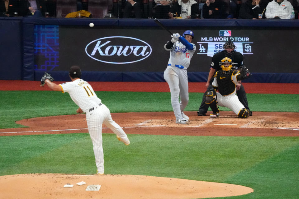
<instances>
[{"instance_id":1,"label":"dark navy padded rail along top of the wall, below spectators","mask_svg":"<svg viewBox=\"0 0 299 199\"><path fill-rule=\"evenodd\" d=\"M0 20L22 20L38 25L94 25L101 26L158 26L154 19L93 19L93 18L29 18L0 17ZM247 19L160 19L168 27L299 27L299 20L247 20Z\"/></svg>"}]
</instances>

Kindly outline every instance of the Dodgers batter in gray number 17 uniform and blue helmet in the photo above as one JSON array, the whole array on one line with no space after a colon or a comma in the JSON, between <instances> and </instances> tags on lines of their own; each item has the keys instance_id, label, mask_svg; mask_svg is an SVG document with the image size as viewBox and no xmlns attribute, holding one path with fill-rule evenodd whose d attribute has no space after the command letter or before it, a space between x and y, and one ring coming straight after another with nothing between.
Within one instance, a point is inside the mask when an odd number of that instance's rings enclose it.
<instances>
[{"instance_id":1,"label":"Dodgers batter in gray number 17 uniform and blue helmet","mask_svg":"<svg viewBox=\"0 0 299 199\"><path fill-rule=\"evenodd\" d=\"M173 34L171 41L164 45L165 50L170 51L168 67L164 71L164 79L169 85L171 105L176 118L176 123L187 124L189 117L183 113L188 104L188 76L187 68L196 50L192 39L194 33L186 30L183 37L178 33ZM179 101L179 97L181 101Z\"/></svg>"}]
</instances>

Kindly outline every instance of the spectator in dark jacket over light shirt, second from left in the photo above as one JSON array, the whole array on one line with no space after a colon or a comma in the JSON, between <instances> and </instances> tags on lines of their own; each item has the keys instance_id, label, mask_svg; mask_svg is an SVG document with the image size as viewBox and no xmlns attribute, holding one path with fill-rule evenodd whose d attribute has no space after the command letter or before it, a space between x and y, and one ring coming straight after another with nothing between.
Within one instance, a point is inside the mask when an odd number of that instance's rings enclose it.
<instances>
[{"instance_id":1,"label":"spectator in dark jacket over light shirt, second from left","mask_svg":"<svg viewBox=\"0 0 299 199\"><path fill-rule=\"evenodd\" d=\"M27 17L45 17L48 12L44 0L20 0L20 12Z\"/></svg>"}]
</instances>

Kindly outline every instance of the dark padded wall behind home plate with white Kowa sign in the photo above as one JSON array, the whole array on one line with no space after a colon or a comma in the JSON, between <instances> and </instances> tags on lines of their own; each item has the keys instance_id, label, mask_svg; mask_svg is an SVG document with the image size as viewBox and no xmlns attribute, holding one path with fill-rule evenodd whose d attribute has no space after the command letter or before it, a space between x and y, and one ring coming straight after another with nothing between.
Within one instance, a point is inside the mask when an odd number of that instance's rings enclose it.
<instances>
[{"instance_id":1,"label":"dark padded wall behind home plate with white Kowa sign","mask_svg":"<svg viewBox=\"0 0 299 199\"><path fill-rule=\"evenodd\" d=\"M205 82L213 54L230 37L253 76L244 82L299 83L298 20L160 20L173 33L193 30L191 82ZM93 22L95 26L89 27ZM153 19L0 18L2 80L164 81L170 34Z\"/></svg>"}]
</instances>

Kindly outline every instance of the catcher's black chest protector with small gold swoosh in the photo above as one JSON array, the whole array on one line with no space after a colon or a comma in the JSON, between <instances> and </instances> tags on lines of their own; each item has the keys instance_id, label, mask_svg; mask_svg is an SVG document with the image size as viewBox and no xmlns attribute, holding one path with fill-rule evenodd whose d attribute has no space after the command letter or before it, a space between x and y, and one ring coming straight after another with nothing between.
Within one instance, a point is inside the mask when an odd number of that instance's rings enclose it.
<instances>
[{"instance_id":1,"label":"catcher's black chest protector with small gold swoosh","mask_svg":"<svg viewBox=\"0 0 299 199\"><path fill-rule=\"evenodd\" d=\"M234 70L230 70L228 74L222 71L217 72L218 92L223 96L230 95L235 91L236 85L231 79L233 72Z\"/></svg>"}]
</instances>

